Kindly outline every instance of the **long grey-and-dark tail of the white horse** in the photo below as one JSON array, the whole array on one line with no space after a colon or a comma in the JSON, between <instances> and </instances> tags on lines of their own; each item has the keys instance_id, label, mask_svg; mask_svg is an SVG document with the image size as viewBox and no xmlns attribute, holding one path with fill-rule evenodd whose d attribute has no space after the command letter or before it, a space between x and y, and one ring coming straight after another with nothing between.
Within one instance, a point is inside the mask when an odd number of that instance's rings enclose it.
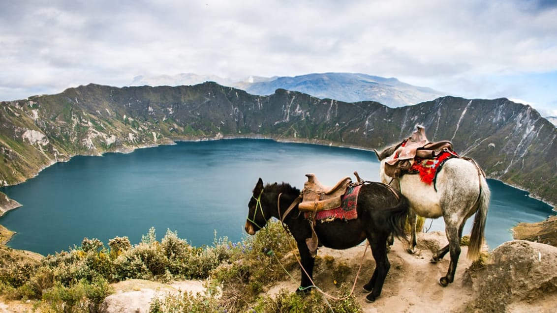
<instances>
[{"instance_id":1,"label":"long grey-and-dark tail of the white horse","mask_svg":"<svg viewBox=\"0 0 557 313\"><path fill-rule=\"evenodd\" d=\"M469 260L477 260L480 257L480 251L483 245L483 233L486 226L487 209L489 208L491 191L487 186L487 181L484 176L480 175L480 195L477 200L477 211L474 223L472 226L472 233L470 235L470 244L468 244Z\"/></svg>"}]
</instances>

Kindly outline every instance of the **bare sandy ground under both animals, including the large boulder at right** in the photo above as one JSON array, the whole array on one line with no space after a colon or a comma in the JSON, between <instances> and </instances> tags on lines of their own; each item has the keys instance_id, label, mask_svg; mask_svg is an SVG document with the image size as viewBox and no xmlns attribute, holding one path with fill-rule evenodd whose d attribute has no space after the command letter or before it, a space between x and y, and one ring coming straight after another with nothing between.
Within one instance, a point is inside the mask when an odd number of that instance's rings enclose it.
<instances>
[{"instance_id":1,"label":"bare sandy ground under both animals, including the large boulder at right","mask_svg":"<svg viewBox=\"0 0 557 313\"><path fill-rule=\"evenodd\" d=\"M372 256L366 255L361 279L355 287L356 298L365 313L375 312L557 312L557 248L529 241L510 241L497 247L488 264L473 266L462 247L455 282L441 287L437 281L446 274L448 255L431 264L432 251L445 245L444 233L422 233L420 250L410 255L400 241L389 252L391 268L382 295L373 304L365 302L361 286L373 271ZM354 269L346 282L354 281L355 271L365 246L339 251L320 249L322 257L331 255ZM330 271L317 269L316 284L334 294L336 286ZM295 276L299 278L299 275ZM281 288L293 290L297 284L286 281L269 292Z\"/></svg>"}]
</instances>

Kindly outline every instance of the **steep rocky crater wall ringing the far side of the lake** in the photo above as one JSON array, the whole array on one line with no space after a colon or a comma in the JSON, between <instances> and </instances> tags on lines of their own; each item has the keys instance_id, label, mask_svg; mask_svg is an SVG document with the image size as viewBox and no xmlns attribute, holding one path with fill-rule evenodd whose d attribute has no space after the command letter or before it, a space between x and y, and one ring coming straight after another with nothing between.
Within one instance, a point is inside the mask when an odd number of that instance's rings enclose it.
<instances>
[{"instance_id":1,"label":"steep rocky crater wall ringing the far side of the lake","mask_svg":"<svg viewBox=\"0 0 557 313\"><path fill-rule=\"evenodd\" d=\"M507 99L442 97L389 108L378 102L321 100L277 90L254 96L216 83L179 87L87 85L57 95L1 102L0 185L22 182L75 155L223 136L380 148L426 127L451 140L489 177L557 203L556 128L530 106Z\"/></svg>"}]
</instances>

